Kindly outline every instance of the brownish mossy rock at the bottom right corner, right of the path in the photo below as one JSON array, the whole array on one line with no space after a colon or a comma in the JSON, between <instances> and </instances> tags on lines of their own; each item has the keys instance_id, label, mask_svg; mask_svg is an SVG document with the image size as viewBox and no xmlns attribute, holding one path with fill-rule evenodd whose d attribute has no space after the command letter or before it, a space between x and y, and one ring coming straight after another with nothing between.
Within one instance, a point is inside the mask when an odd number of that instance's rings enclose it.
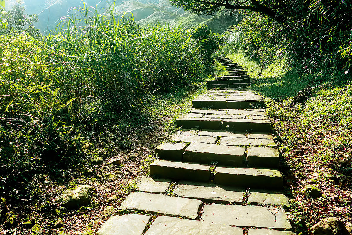
<instances>
[{"instance_id":1,"label":"brownish mossy rock at the bottom right corner, right of the path","mask_svg":"<svg viewBox=\"0 0 352 235\"><path fill-rule=\"evenodd\" d=\"M328 217L314 224L309 230L309 235L350 235L340 218Z\"/></svg>"}]
</instances>

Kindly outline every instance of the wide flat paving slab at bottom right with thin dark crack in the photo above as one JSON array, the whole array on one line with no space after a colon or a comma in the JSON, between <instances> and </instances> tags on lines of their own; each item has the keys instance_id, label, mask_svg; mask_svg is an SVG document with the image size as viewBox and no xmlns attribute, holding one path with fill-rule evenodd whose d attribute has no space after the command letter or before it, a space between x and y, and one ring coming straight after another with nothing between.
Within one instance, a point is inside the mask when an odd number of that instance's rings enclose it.
<instances>
[{"instance_id":1,"label":"wide flat paving slab at bottom right with thin dark crack","mask_svg":"<svg viewBox=\"0 0 352 235\"><path fill-rule=\"evenodd\" d=\"M201 219L240 227L291 229L282 209L265 206L205 205Z\"/></svg>"}]
</instances>

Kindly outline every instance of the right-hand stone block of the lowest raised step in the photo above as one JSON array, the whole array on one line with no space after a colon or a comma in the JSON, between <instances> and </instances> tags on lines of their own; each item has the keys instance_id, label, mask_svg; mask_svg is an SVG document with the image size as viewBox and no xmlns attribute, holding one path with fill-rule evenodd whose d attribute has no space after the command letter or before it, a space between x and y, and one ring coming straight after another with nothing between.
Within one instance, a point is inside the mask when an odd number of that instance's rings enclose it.
<instances>
[{"instance_id":1,"label":"right-hand stone block of the lowest raised step","mask_svg":"<svg viewBox=\"0 0 352 235\"><path fill-rule=\"evenodd\" d=\"M222 185L276 189L282 188L283 180L276 170L216 167L214 181Z\"/></svg>"}]
</instances>

